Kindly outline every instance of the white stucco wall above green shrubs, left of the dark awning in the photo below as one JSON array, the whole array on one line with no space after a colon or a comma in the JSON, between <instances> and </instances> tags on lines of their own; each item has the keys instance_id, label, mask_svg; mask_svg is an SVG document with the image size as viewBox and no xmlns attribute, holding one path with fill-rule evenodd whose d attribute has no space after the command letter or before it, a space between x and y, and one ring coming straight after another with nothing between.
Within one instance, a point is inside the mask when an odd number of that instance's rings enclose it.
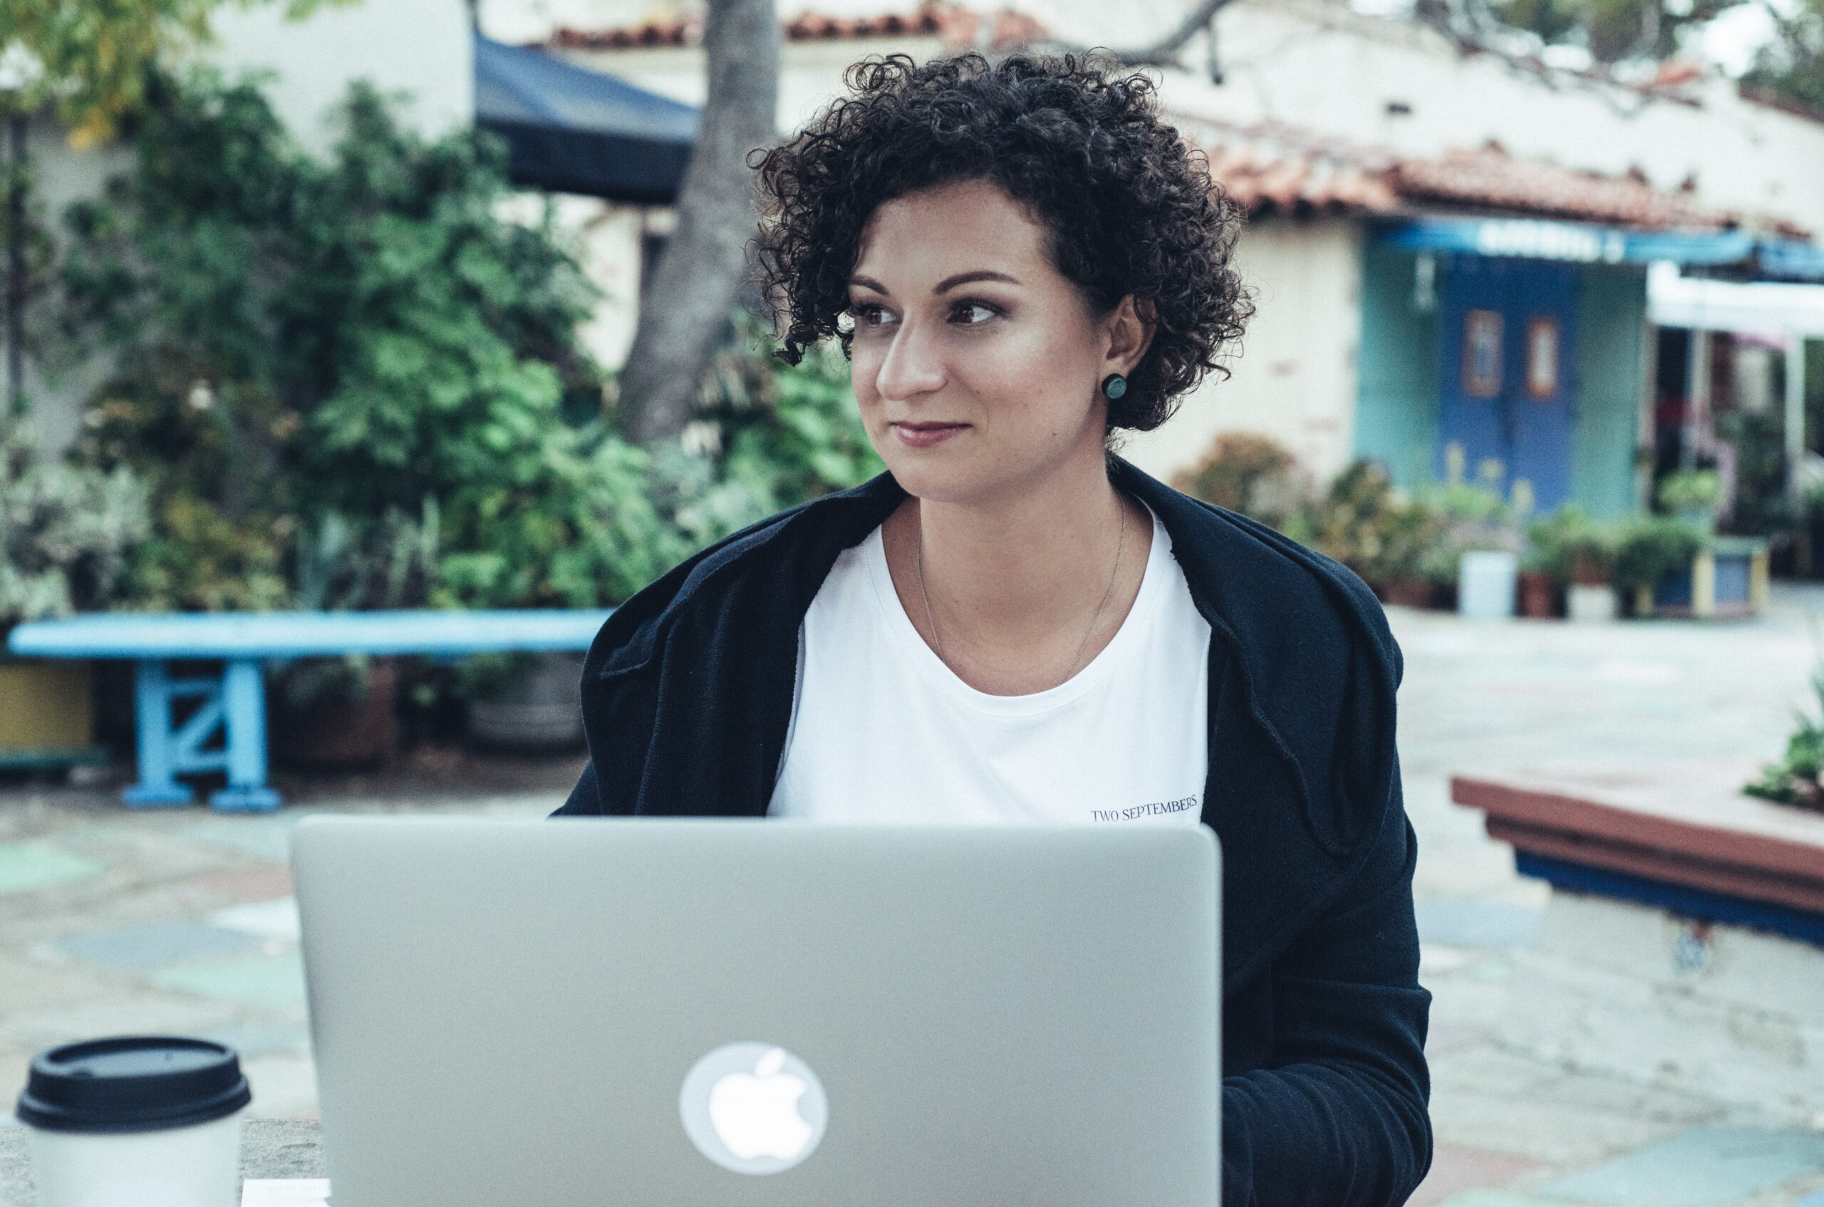
<instances>
[{"instance_id":1,"label":"white stucco wall above green shrubs, left of the dark awning","mask_svg":"<svg viewBox=\"0 0 1824 1207\"><path fill-rule=\"evenodd\" d=\"M224 5L208 58L268 71L266 97L312 151L334 142L332 113L354 80L403 93L405 120L438 137L474 120L474 42L463 0L358 0L285 18L285 4Z\"/></svg>"}]
</instances>

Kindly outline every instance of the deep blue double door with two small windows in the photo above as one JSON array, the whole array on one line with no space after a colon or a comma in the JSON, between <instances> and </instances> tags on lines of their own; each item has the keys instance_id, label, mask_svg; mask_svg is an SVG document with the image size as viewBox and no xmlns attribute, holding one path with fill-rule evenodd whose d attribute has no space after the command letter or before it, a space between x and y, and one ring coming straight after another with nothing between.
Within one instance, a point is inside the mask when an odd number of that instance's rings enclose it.
<instances>
[{"instance_id":1,"label":"deep blue double door with two small windows","mask_svg":"<svg viewBox=\"0 0 1824 1207\"><path fill-rule=\"evenodd\" d=\"M1435 472L1516 509L1570 498L1578 273L1550 261L1461 255L1439 297L1443 407Z\"/></svg>"}]
</instances>

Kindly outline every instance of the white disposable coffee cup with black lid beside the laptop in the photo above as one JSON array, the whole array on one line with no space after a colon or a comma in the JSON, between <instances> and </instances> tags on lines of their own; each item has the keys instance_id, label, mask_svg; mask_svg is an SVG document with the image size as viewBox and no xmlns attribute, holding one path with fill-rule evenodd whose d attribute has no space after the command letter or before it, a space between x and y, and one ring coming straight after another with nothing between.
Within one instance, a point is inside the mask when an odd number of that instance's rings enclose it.
<instances>
[{"instance_id":1,"label":"white disposable coffee cup with black lid beside the laptop","mask_svg":"<svg viewBox=\"0 0 1824 1207\"><path fill-rule=\"evenodd\" d=\"M237 1207L241 1061L206 1039L126 1036L42 1052L18 1121L38 1207Z\"/></svg>"}]
</instances>

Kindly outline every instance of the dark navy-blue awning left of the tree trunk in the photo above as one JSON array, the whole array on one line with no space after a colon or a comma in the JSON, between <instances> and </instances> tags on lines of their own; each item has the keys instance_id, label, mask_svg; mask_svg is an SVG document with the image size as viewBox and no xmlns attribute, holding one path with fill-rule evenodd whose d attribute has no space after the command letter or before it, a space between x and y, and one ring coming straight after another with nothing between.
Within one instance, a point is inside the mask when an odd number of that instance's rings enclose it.
<instances>
[{"instance_id":1,"label":"dark navy-blue awning left of the tree trunk","mask_svg":"<svg viewBox=\"0 0 1824 1207\"><path fill-rule=\"evenodd\" d=\"M669 204L702 126L695 106L476 35L474 122L505 137L527 188Z\"/></svg>"}]
</instances>

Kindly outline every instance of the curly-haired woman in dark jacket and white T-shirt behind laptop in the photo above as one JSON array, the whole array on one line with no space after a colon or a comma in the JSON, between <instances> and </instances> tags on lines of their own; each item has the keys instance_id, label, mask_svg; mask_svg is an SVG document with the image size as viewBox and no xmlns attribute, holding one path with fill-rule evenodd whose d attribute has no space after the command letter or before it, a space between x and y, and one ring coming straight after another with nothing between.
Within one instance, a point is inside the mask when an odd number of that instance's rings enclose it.
<instances>
[{"instance_id":1,"label":"curly-haired woman in dark jacket and white T-shirt behind laptop","mask_svg":"<svg viewBox=\"0 0 1824 1207\"><path fill-rule=\"evenodd\" d=\"M1348 571L1109 454L1240 334L1235 210L1147 80L854 67L759 168L795 359L888 474L629 600L564 813L1209 824L1224 1203L1401 1203L1430 1161L1399 651Z\"/></svg>"}]
</instances>

